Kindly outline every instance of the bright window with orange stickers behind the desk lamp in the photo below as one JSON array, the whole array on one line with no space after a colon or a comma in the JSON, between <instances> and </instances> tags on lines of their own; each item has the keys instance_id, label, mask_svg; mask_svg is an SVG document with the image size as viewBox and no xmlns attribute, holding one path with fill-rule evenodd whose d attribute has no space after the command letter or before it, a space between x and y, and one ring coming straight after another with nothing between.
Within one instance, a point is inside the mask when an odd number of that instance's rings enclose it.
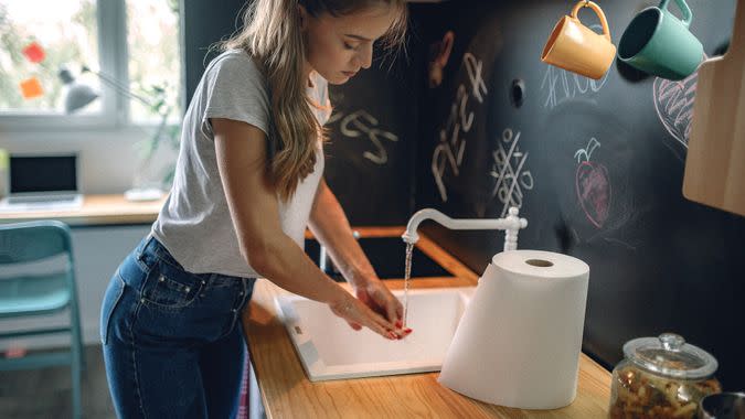
<instances>
[{"instance_id":1,"label":"bright window with orange stickers behind the desk lamp","mask_svg":"<svg viewBox=\"0 0 745 419\"><path fill-rule=\"evenodd\" d=\"M0 0L0 126L151 125L166 111L170 122L181 115L179 0ZM73 79L93 95L71 109Z\"/></svg>"}]
</instances>

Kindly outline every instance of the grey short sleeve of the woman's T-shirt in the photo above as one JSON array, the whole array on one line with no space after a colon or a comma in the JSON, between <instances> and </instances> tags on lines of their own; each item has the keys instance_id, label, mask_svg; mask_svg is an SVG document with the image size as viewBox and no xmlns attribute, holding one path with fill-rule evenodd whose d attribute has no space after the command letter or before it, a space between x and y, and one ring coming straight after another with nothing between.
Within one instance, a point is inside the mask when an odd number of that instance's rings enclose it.
<instances>
[{"instance_id":1,"label":"grey short sleeve of the woman's T-shirt","mask_svg":"<svg viewBox=\"0 0 745 419\"><path fill-rule=\"evenodd\" d=\"M202 87L202 132L213 138L210 118L255 126L269 137L269 94L266 78L244 52L227 52L207 67Z\"/></svg>"}]
</instances>

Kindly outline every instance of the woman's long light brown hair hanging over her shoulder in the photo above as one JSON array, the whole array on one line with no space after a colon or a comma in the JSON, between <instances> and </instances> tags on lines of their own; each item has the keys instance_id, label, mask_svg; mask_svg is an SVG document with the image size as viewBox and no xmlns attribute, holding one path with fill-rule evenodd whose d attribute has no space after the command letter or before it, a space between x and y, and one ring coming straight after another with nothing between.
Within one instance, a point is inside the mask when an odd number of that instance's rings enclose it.
<instances>
[{"instance_id":1,"label":"woman's long light brown hair hanging over her shoulder","mask_svg":"<svg viewBox=\"0 0 745 419\"><path fill-rule=\"evenodd\" d=\"M308 97L307 80L302 79L306 51L298 6L317 18L322 13L348 15L379 4L401 11L382 37L382 46L402 47L408 19L404 0L254 0L244 13L243 29L219 45L223 51L246 51L265 72L272 100L270 135L277 148L272 174L283 201L289 201L300 181L313 171L319 136L327 140L311 110L318 104Z\"/></svg>"}]
</instances>

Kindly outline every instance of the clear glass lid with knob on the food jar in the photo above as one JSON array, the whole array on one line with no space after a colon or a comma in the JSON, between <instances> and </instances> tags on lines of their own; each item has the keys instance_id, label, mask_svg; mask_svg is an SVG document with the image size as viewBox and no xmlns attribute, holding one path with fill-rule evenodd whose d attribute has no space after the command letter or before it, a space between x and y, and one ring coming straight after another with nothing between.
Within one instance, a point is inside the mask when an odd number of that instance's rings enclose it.
<instances>
[{"instance_id":1,"label":"clear glass lid with knob on the food jar","mask_svg":"<svg viewBox=\"0 0 745 419\"><path fill-rule=\"evenodd\" d=\"M626 342L624 355L646 370L672 378L705 378L719 367L710 353L674 333Z\"/></svg>"}]
</instances>

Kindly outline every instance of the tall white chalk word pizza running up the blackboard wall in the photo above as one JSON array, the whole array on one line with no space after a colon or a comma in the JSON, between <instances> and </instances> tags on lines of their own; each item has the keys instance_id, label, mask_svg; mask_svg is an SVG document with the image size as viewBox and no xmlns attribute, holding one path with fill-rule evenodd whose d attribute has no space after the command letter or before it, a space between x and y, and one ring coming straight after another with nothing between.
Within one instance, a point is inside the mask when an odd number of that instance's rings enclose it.
<instances>
[{"instance_id":1,"label":"tall white chalk word pizza running up the blackboard wall","mask_svg":"<svg viewBox=\"0 0 745 419\"><path fill-rule=\"evenodd\" d=\"M473 111L468 110L468 99L472 96L482 104L489 93L481 73L483 63L472 54L466 53L464 65L468 72L470 94L465 84L458 86L445 127L439 130L439 143L432 157L432 173L443 202L447 202L447 187L444 181L446 170L449 168L453 175L458 176L466 151L464 135L470 131L473 125Z\"/></svg>"}]
</instances>

